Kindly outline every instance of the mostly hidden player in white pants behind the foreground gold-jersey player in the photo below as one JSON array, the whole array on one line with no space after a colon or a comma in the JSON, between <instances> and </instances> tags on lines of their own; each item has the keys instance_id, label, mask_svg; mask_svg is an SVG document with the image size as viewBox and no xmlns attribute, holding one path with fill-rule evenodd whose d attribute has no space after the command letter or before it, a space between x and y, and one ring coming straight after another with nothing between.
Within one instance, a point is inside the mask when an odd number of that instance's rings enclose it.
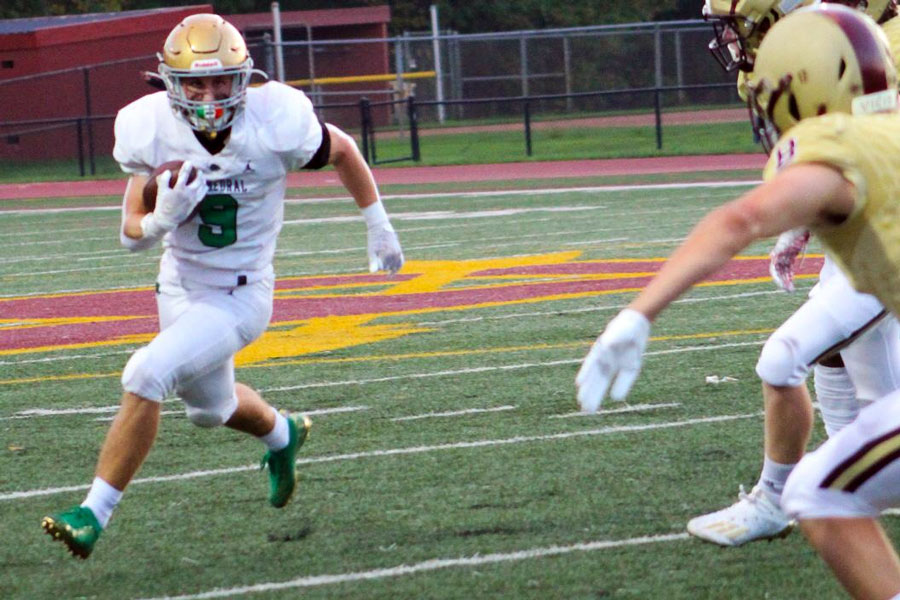
<instances>
[{"instance_id":1,"label":"mostly hidden player in white pants behind the foreground gold-jersey player","mask_svg":"<svg viewBox=\"0 0 900 600\"><path fill-rule=\"evenodd\" d=\"M707 0L704 15L715 24L710 49L728 69L751 77L766 32L785 14L818 0ZM837 2L884 22L894 0ZM743 85L743 80L741 85ZM783 234L772 251L770 271L780 287L793 289L793 259L809 232ZM878 300L853 289L826 258L810 298L766 341L756 372L765 406L763 465L759 479L738 501L691 519L690 534L722 546L787 535L792 521L781 510L784 484L803 456L813 426L806 379L814 372L816 398L829 436L853 421L860 407L900 388L900 325Z\"/></svg>"}]
</instances>

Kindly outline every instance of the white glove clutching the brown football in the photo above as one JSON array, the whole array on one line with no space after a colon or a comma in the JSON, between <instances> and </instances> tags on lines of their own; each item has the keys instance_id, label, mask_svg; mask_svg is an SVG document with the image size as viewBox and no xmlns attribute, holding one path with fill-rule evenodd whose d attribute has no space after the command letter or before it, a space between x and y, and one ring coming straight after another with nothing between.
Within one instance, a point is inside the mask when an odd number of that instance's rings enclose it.
<instances>
[{"instance_id":1,"label":"white glove clutching the brown football","mask_svg":"<svg viewBox=\"0 0 900 600\"><path fill-rule=\"evenodd\" d=\"M144 237L161 237L178 227L209 192L206 176L200 170L197 170L194 180L188 183L192 169L190 161L182 163L175 187L169 187L171 171L166 170L156 176L156 208L141 219Z\"/></svg>"}]
</instances>

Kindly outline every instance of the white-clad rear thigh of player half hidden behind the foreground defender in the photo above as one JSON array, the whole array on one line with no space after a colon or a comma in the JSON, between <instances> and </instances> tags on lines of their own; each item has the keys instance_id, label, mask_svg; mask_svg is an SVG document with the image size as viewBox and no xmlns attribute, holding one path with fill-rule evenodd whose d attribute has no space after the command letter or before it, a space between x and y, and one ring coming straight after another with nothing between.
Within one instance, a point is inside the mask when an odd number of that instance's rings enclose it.
<instances>
[{"instance_id":1,"label":"white-clad rear thigh of player half hidden behind the foreground defender","mask_svg":"<svg viewBox=\"0 0 900 600\"><path fill-rule=\"evenodd\" d=\"M872 402L900 388L900 323L888 315L847 348L841 357L856 397Z\"/></svg>"}]
</instances>

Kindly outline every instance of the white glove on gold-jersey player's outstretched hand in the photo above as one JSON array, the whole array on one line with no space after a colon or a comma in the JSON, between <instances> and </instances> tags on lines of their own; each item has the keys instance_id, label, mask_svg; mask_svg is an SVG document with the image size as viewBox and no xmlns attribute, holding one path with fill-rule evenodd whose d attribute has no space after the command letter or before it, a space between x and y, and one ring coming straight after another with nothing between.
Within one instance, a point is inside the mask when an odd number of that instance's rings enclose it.
<instances>
[{"instance_id":1,"label":"white glove on gold-jersey player's outstretched hand","mask_svg":"<svg viewBox=\"0 0 900 600\"><path fill-rule=\"evenodd\" d=\"M610 397L625 399L641 371L649 337L650 321L636 310L626 308L607 324L575 376L582 412L597 412L610 382Z\"/></svg>"}]
</instances>

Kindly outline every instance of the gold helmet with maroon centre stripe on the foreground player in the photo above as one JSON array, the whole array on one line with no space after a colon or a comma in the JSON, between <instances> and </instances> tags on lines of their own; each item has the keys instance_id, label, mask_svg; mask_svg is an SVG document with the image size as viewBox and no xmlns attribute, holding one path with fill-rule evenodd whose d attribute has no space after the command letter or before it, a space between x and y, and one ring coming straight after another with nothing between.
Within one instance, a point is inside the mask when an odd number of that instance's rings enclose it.
<instances>
[{"instance_id":1,"label":"gold helmet with maroon centre stripe on the foreground player","mask_svg":"<svg viewBox=\"0 0 900 600\"><path fill-rule=\"evenodd\" d=\"M898 106L887 38L865 13L841 4L798 10L775 24L759 46L747 93L766 152L803 119Z\"/></svg>"}]
</instances>

